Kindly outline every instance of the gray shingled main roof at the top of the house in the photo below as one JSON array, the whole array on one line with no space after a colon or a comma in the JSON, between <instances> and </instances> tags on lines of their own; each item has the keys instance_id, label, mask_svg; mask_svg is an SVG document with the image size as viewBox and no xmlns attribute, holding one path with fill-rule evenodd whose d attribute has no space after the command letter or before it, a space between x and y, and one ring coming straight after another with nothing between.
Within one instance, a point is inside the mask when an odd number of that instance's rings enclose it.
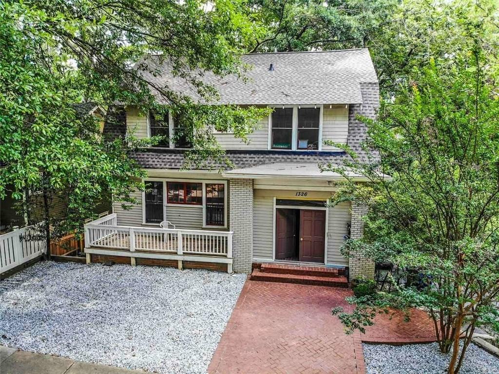
<instances>
[{"instance_id":1,"label":"gray shingled main roof at the top of the house","mask_svg":"<svg viewBox=\"0 0 499 374\"><path fill-rule=\"evenodd\" d=\"M161 73L144 77L155 84L202 101L193 87L171 74L170 65L159 65L158 56L141 61ZM368 49L335 51L246 54L243 61L252 66L248 82L235 75L224 78L206 72L200 79L214 85L219 104L353 104L362 103L360 83L377 83ZM274 70L269 71L270 64ZM139 65L137 65L139 66ZM162 101L159 99L158 101Z\"/></svg>"}]
</instances>

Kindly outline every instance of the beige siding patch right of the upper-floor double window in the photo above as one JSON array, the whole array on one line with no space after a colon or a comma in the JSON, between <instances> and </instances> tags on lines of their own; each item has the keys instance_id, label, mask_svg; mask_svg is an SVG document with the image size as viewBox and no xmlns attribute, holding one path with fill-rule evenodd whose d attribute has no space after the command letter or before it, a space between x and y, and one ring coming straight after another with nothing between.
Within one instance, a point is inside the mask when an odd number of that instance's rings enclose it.
<instances>
[{"instance_id":1,"label":"beige siding patch right of the upper-floor double window","mask_svg":"<svg viewBox=\"0 0 499 374\"><path fill-rule=\"evenodd\" d=\"M348 108L345 105L324 105L322 118L322 141L332 140L346 144L348 138ZM322 150L330 151L338 148L322 144Z\"/></svg>"}]
</instances>

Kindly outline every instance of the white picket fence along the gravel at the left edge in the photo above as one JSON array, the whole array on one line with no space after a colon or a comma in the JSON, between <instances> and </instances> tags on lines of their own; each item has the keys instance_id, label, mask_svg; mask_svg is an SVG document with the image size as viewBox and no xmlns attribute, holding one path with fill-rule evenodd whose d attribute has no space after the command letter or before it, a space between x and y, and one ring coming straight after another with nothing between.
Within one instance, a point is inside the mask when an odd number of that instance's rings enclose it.
<instances>
[{"instance_id":1,"label":"white picket fence along the gravel at the left edge","mask_svg":"<svg viewBox=\"0 0 499 374\"><path fill-rule=\"evenodd\" d=\"M0 273L15 268L46 251L44 240L35 240L33 226L0 235Z\"/></svg>"}]
</instances>

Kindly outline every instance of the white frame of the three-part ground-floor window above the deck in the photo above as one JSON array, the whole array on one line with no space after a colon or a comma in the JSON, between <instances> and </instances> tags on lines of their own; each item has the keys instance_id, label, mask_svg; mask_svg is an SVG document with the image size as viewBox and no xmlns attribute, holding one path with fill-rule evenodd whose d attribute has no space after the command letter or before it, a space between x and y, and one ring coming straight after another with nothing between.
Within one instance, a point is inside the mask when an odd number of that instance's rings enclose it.
<instances>
[{"instance_id":1,"label":"white frame of the three-part ground-floor window above the deck","mask_svg":"<svg viewBox=\"0 0 499 374\"><path fill-rule=\"evenodd\" d=\"M165 201L163 203L163 221L167 220L166 208L168 206L174 207L195 207L199 209L203 209L203 229L227 229L227 213L228 213L228 181L227 180L218 180L218 179L182 179L182 178L142 178L142 183L146 182L163 182L163 195ZM168 204L168 190L167 183L168 182L190 182L190 183L201 183L203 185L203 203L199 204ZM206 185L207 184L223 184L224 185L224 226L214 226L206 224ZM151 223L146 222L146 192L142 191L142 225L147 226L159 226L159 223Z\"/></svg>"}]
</instances>

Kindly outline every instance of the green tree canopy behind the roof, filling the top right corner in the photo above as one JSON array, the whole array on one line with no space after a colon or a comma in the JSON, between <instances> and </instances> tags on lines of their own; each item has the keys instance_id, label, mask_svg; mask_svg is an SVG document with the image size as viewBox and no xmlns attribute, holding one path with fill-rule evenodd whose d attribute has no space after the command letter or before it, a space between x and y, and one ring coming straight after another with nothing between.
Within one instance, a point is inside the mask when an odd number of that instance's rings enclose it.
<instances>
[{"instance_id":1,"label":"green tree canopy behind the roof, filling the top right corner","mask_svg":"<svg viewBox=\"0 0 499 374\"><path fill-rule=\"evenodd\" d=\"M410 83L430 58L469 50L480 40L497 66L496 0L253 0L266 27L253 51L369 48L382 95ZM472 37L470 37L472 36Z\"/></svg>"}]
</instances>

